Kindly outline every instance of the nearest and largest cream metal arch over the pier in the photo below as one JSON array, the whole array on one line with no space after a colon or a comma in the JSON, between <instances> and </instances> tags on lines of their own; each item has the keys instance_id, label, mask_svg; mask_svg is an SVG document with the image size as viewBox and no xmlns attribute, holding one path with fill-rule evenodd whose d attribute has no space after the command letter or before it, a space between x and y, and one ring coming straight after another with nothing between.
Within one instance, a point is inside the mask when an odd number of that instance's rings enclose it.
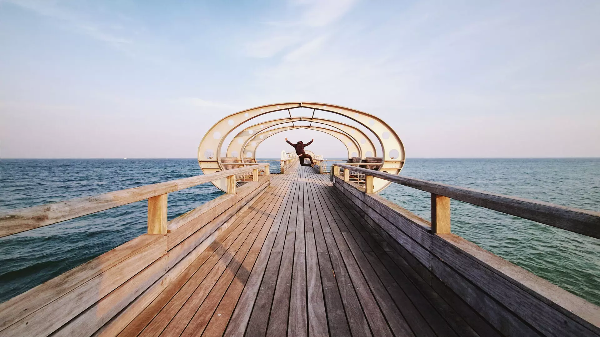
<instances>
[{"instance_id":1,"label":"nearest and largest cream metal arch over the pier","mask_svg":"<svg viewBox=\"0 0 600 337\"><path fill-rule=\"evenodd\" d=\"M382 119L369 113L361 112L360 110L350 109L348 107L337 106L334 104L323 103L279 103L268 104L265 106L254 107L252 109L242 110L241 112L233 113L218 121L205 134L200 145L198 146L198 163L204 173L212 173L223 170L220 166L219 158L221 157L221 146L223 141L231 131L238 128L250 119L257 116L265 115L266 113L277 112L287 109L296 109L299 107L307 107L309 109L331 112L337 115L346 116L355 122L363 125L371 131L379 140L383 150L383 166L382 171L398 174L404 164L404 145L400 137L389 127ZM214 182L217 185L217 182ZM389 182L379 178L373 181L374 192L381 191L389 185Z\"/></svg>"}]
</instances>

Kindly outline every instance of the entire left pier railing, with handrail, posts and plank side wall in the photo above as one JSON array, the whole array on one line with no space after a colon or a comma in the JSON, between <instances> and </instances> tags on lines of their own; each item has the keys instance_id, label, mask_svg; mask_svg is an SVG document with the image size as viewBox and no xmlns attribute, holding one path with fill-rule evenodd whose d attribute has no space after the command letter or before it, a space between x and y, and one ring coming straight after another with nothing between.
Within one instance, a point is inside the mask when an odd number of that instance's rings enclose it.
<instances>
[{"instance_id":1,"label":"entire left pier railing, with handrail, posts and plank side wall","mask_svg":"<svg viewBox=\"0 0 600 337\"><path fill-rule=\"evenodd\" d=\"M148 233L0 303L0 337L114 336L162 293L269 186L268 164L140 186L0 215L7 236L148 199ZM236 187L236 176L252 177ZM167 194L217 179L220 195L167 222Z\"/></svg>"}]
</instances>

